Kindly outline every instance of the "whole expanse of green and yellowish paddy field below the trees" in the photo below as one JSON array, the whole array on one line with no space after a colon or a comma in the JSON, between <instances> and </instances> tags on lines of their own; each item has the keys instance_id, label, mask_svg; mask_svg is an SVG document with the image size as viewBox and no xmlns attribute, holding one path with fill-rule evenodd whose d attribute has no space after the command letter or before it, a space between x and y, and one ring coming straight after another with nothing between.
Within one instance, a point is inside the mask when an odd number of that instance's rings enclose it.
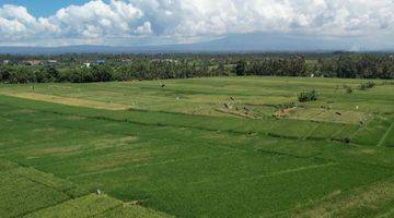
<instances>
[{"instance_id":1,"label":"whole expanse of green and yellowish paddy field below the trees","mask_svg":"<svg viewBox=\"0 0 394 218\"><path fill-rule=\"evenodd\" d=\"M394 86L362 82L1 85L0 217L393 217Z\"/></svg>"}]
</instances>

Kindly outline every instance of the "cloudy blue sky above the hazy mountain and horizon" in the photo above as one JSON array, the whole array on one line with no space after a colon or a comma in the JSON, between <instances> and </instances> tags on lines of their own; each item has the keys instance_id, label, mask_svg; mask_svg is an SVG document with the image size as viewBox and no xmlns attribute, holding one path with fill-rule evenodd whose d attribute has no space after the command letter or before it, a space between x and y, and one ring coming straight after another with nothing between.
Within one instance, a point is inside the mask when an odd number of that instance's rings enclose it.
<instances>
[{"instance_id":1,"label":"cloudy blue sky above the hazy mountain and horizon","mask_svg":"<svg viewBox=\"0 0 394 218\"><path fill-rule=\"evenodd\" d=\"M0 46L154 46L253 33L394 49L394 0L0 0Z\"/></svg>"}]
</instances>

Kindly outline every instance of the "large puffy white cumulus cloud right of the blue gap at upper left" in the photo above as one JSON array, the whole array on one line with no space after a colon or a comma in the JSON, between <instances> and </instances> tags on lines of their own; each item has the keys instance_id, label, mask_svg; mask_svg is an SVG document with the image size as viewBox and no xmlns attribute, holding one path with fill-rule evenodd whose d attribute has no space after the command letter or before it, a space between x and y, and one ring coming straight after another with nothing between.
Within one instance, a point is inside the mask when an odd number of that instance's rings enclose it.
<instances>
[{"instance_id":1,"label":"large puffy white cumulus cloud right of the blue gap at upper left","mask_svg":"<svg viewBox=\"0 0 394 218\"><path fill-rule=\"evenodd\" d=\"M62 36L97 38L127 36L138 26L143 13L130 3L91 1L60 9L48 20L61 28Z\"/></svg>"}]
</instances>

